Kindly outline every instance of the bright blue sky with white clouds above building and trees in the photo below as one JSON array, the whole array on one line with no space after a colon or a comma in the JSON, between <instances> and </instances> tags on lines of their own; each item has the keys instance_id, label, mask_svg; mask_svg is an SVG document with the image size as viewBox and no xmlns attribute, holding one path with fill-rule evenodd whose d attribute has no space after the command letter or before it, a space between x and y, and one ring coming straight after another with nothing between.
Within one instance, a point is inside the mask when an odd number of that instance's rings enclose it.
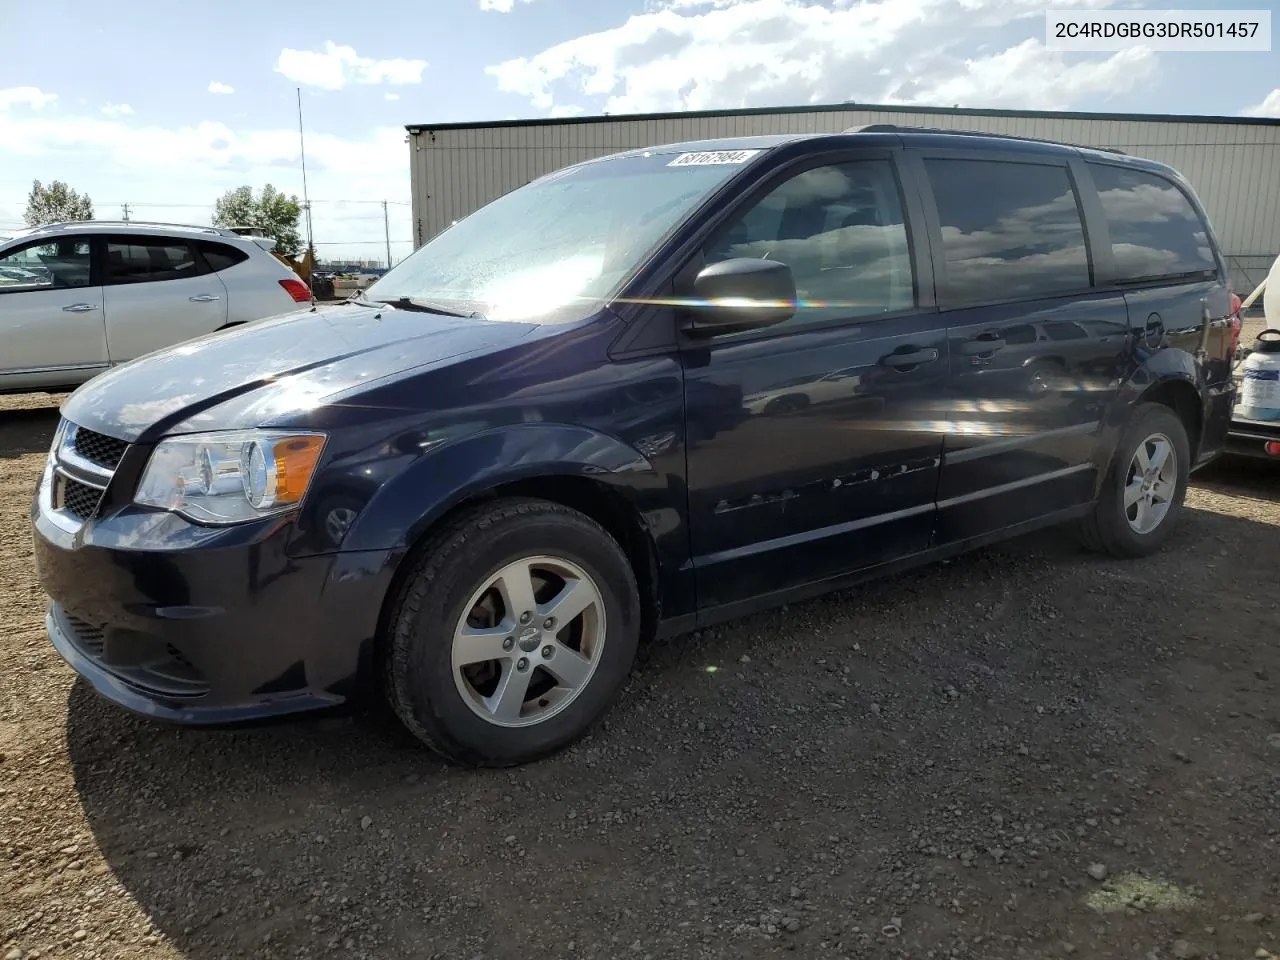
<instances>
[{"instance_id":1,"label":"bright blue sky with white clouds above building and trees","mask_svg":"<svg viewBox=\"0 0 1280 960\"><path fill-rule=\"evenodd\" d=\"M1062 54L1044 10L1220 0L4 0L0 234L32 180L100 219L209 223L227 189L302 195L316 247L412 250L406 124L826 104L1280 116L1271 52ZM1274 0L1239 0L1266 8Z\"/></svg>"}]
</instances>

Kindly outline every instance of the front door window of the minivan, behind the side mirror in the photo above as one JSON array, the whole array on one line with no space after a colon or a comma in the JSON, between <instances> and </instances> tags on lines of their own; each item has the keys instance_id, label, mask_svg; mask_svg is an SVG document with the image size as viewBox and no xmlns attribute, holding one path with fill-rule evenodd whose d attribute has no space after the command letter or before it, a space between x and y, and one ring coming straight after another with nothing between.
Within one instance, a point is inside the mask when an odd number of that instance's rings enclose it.
<instances>
[{"instance_id":1,"label":"front door window of the minivan, behind the side mirror","mask_svg":"<svg viewBox=\"0 0 1280 960\"><path fill-rule=\"evenodd\" d=\"M897 178L888 160L817 166L785 180L707 246L791 268L800 300L786 326L896 314L915 305Z\"/></svg>"}]
</instances>

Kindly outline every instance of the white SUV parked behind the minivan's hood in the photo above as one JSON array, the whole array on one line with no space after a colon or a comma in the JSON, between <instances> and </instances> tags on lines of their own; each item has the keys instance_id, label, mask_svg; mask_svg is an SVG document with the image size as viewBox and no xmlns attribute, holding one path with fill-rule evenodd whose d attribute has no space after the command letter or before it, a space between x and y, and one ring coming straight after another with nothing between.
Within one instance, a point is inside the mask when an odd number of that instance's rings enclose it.
<instances>
[{"instance_id":1,"label":"white SUV parked behind the minivan's hood","mask_svg":"<svg viewBox=\"0 0 1280 960\"><path fill-rule=\"evenodd\" d=\"M182 340L298 308L274 241L84 220L0 239L0 393L77 387Z\"/></svg>"}]
</instances>

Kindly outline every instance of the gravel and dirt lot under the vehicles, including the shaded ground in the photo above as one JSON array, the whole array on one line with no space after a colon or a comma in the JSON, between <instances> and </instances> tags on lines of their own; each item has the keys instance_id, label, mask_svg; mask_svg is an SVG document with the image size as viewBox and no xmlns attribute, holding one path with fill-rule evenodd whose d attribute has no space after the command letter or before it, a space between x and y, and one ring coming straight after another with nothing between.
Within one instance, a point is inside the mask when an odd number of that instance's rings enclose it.
<instances>
[{"instance_id":1,"label":"gravel and dirt lot under the vehicles, including the shaded ground","mask_svg":"<svg viewBox=\"0 0 1280 960\"><path fill-rule=\"evenodd\" d=\"M1275 470L1199 477L1151 561L1041 535L663 644L590 740L472 773L376 712L191 731L74 682L47 402L0 402L5 960L1280 951Z\"/></svg>"}]
</instances>

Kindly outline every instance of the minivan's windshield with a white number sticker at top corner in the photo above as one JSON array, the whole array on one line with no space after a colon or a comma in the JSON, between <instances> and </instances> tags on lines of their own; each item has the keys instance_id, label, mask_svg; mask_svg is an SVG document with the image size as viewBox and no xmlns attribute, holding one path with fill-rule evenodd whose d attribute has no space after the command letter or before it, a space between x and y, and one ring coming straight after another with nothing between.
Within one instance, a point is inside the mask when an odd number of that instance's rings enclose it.
<instances>
[{"instance_id":1,"label":"minivan's windshield with a white number sticker at top corner","mask_svg":"<svg viewBox=\"0 0 1280 960\"><path fill-rule=\"evenodd\" d=\"M759 152L631 155L548 174L433 237L365 297L492 320L580 320Z\"/></svg>"}]
</instances>

